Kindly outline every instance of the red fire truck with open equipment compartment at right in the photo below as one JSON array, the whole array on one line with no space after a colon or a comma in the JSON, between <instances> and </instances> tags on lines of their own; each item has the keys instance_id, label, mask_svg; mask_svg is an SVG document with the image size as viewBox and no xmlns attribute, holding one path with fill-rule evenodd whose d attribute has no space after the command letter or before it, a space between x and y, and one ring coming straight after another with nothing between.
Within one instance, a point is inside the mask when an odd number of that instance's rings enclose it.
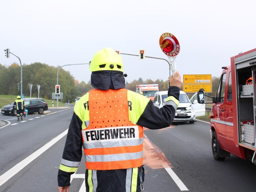
<instances>
[{"instance_id":1,"label":"red fire truck with open equipment compartment at right","mask_svg":"<svg viewBox=\"0 0 256 192\"><path fill-rule=\"evenodd\" d=\"M222 69L209 116L213 156L224 160L231 153L256 164L256 49L231 57ZM204 103L201 90L198 102Z\"/></svg>"}]
</instances>

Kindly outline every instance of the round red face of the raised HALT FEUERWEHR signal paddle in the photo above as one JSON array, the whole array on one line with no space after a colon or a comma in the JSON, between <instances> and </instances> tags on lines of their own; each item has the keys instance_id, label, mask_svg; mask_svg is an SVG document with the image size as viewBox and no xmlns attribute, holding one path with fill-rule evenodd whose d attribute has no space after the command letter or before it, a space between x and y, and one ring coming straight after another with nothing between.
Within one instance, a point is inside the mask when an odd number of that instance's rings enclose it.
<instances>
[{"instance_id":1,"label":"round red face of the raised HALT FEUERWEHR signal paddle","mask_svg":"<svg viewBox=\"0 0 256 192\"><path fill-rule=\"evenodd\" d=\"M163 33L159 39L162 52L168 57L176 57L180 52L180 44L177 38L171 33Z\"/></svg>"}]
</instances>

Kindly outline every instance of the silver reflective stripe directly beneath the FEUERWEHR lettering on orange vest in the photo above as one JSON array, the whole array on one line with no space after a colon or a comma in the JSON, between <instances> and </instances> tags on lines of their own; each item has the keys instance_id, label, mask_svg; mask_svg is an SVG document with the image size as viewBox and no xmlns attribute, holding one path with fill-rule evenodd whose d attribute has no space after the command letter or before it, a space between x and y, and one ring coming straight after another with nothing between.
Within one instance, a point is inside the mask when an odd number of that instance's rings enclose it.
<instances>
[{"instance_id":1,"label":"silver reflective stripe directly beneath the FEUERWEHR lettering on orange vest","mask_svg":"<svg viewBox=\"0 0 256 192\"><path fill-rule=\"evenodd\" d=\"M139 139L118 140L110 142L83 143L84 149L119 147L119 146L137 146L143 144L143 137Z\"/></svg>"}]
</instances>

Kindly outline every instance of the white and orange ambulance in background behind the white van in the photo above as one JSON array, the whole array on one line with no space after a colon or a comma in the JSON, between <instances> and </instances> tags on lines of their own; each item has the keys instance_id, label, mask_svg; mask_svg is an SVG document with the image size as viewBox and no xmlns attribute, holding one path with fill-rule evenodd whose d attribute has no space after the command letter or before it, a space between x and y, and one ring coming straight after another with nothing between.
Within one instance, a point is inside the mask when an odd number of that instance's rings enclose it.
<instances>
[{"instance_id":1,"label":"white and orange ambulance in background behind the white van","mask_svg":"<svg viewBox=\"0 0 256 192\"><path fill-rule=\"evenodd\" d=\"M145 97L154 100L154 95L158 92L158 84L148 84L148 85L136 85L136 93L142 94Z\"/></svg>"}]
</instances>

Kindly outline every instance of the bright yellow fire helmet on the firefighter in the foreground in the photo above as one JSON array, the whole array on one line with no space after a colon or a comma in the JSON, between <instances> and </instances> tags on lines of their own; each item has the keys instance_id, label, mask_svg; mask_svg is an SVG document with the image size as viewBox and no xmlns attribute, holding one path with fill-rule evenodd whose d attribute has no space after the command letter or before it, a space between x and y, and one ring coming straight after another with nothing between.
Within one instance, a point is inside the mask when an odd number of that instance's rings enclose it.
<instances>
[{"instance_id":1,"label":"bright yellow fire helmet on the firefighter in the foreground","mask_svg":"<svg viewBox=\"0 0 256 192\"><path fill-rule=\"evenodd\" d=\"M111 48L103 48L99 50L91 60L90 71L105 70L123 72L122 57Z\"/></svg>"}]
</instances>

